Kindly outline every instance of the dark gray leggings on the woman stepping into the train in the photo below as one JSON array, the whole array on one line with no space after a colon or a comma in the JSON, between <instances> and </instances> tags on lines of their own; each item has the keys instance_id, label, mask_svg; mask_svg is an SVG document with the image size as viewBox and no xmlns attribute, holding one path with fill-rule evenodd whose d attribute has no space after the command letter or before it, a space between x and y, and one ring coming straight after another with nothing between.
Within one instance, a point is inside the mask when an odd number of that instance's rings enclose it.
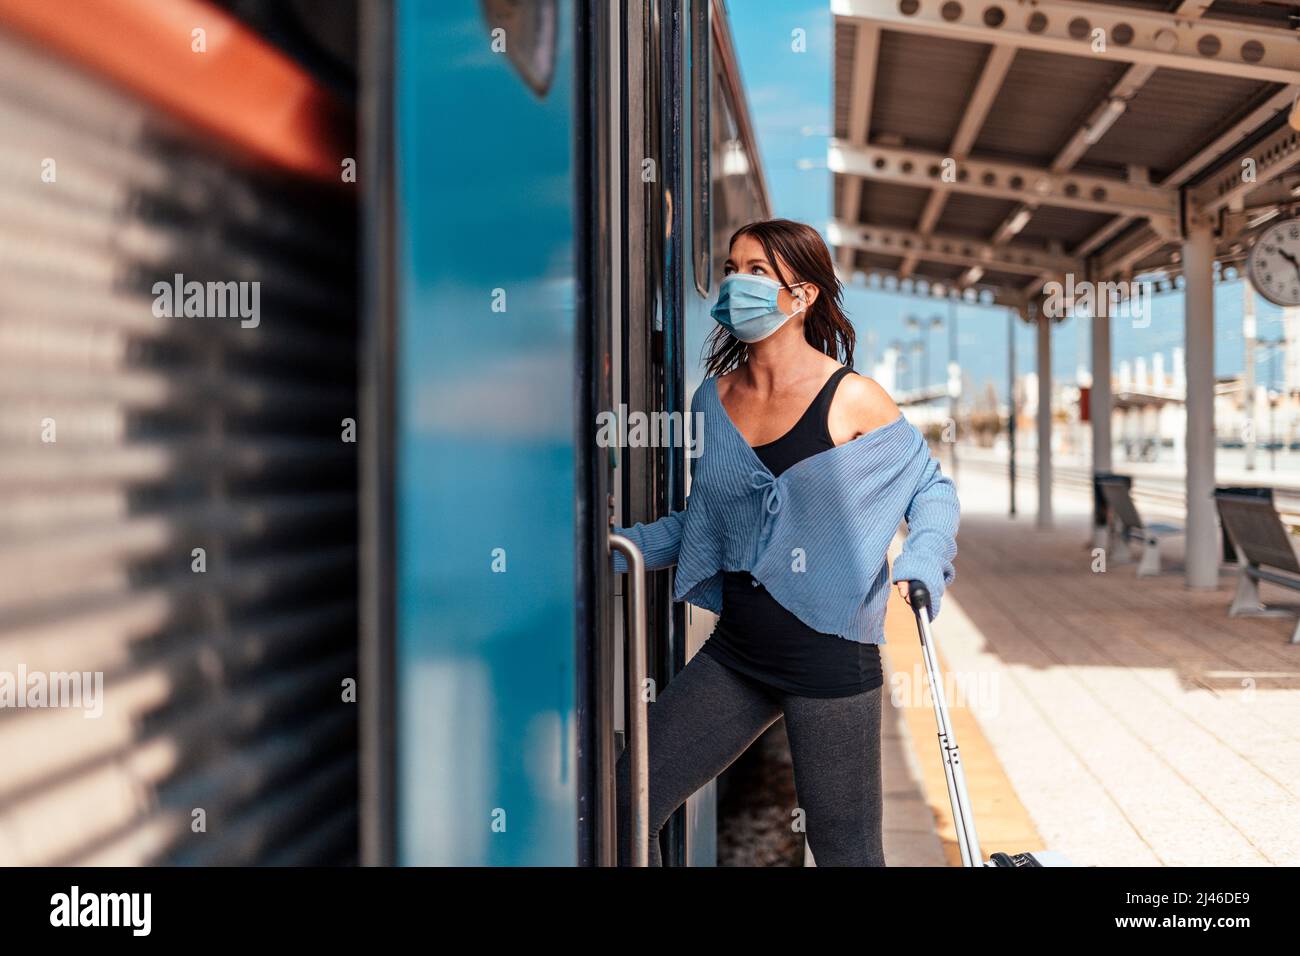
<instances>
[{"instance_id":1,"label":"dark gray leggings on the woman stepping into the train","mask_svg":"<svg viewBox=\"0 0 1300 956\"><path fill-rule=\"evenodd\" d=\"M852 697L797 697L696 654L650 705L650 865L663 865L659 830L673 810L785 714L794 791L816 865L884 866L880 701L879 687ZM618 792L619 861L625 864L632 832L627 750Z\"/></svg>"}]
</instances>

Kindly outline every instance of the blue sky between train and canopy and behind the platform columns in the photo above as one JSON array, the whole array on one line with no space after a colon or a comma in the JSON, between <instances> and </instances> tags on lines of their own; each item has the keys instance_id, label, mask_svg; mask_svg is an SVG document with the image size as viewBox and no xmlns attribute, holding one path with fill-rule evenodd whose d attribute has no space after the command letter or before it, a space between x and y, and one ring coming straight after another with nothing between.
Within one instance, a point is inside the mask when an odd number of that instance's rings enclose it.
<instances>
[{"instance_id":1,"label":"blue sky between train and canopy and behind the platform columns","mask_svg":"<svg viewBox=\"0 0 1300 956\"><path fill-rule=\"evenodd\" d=\"M832 17L827 0L727 0L741 77L758 137L767 186L776 216L815 225L826 234L831 219L831 173L826 166L832 117ZM806 52L796 52L793 31L802 30ZM1243 363L1242 284L1216 287L1216 371L1236 372ZM1161 351L1170 367L1173 349L1183 342L1183 295L1157 295L1147 329L1112 332L1115 365L1138 355ZM857 367L870 372L881 349L896 339L910 339L909 315L928 319L948 316L948 303L928 298L868 289L846 289L845 306L858 329ZM1282 334L1280 310L1256 297L1260 337ZM983 392L992 381L1005 395L1008 316L1006 310L961 304L957 307L958 359L967 382ZM1017 367L1032 371L1034 329L1017 323ZM930 376L940 381L948 362L948 330L931 334ZM1070 320L1052 337L1052 368L1056 376L1074 381L1080 362L1088 364L1088 328ZM1261 350L1262 351L1262 350ZM1280 363L1279 363L1280 367ZM1260 381L1269 381L1269 359L1261 355Z\"/></svg>"}]
</instances>

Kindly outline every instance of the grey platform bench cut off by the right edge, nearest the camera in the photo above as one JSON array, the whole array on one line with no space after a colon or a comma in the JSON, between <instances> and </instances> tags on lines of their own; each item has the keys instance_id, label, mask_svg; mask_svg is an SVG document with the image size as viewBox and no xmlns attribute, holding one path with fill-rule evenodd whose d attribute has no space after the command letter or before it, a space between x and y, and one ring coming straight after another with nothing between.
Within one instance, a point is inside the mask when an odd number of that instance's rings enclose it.
<instances>
[{"instance_id":1,"label":"grey platform bench cut off by the right edge, nearest the camera","mask_svg":"<svg viewBox=\"0 0 1300 956\"><path fill-rule=\"evenodd\" d=\"M1296 607L1269 607L1260 600L1260 581L1300 591L1300 561L1273 502L1257 494L1216 492L1214 503L1223 529L1232 540L1239 568L1228 617L1280 618L1295 614ZM1300 644L1300 620L1291 633L1291 643Z\"/></svg>"}]
</instances>

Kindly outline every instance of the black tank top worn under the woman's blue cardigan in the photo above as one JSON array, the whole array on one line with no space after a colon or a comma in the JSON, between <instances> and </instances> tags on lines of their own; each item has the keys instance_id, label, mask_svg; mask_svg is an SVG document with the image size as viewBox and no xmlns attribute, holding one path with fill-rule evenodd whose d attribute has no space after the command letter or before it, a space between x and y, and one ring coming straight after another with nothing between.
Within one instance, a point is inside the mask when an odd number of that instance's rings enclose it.
<instances>
[{"instance_id":1,"label":"black tank top worn under the woman's blue cardigan","mask_svg":"<svg viewBox=\"0 0 1300 956\"><path fill-rule=\"evenodd\" d=\"M835 447L827 418L840 380L832 375L794 427L754 453L774 475ZM848 697L880 687L880 648L822 633L788 611L748 571L723 572L723 613L699 648L720 663L801 697Z\"/></svg>"}]
</instances>

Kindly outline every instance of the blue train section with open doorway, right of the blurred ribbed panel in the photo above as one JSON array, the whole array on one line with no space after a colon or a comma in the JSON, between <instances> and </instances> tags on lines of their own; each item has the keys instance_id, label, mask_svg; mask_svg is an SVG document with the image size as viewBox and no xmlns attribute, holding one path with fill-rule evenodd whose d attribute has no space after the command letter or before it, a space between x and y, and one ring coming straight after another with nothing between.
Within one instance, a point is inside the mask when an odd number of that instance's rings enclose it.
<instances>
[{"instance_id":1,"label":"blue train section with open doorway, right of the blurred ribbed panel","mask_svg":"<svg viewBox=\"0 0 1300 956\"><path fill-rule=\"evenodd\" d=\"M628 606L610 525L682 507L686 449L598 415L689 411L727 239L768 215L727 12L364 23L363 858L608 865L628 615L660 687L711 622L668 572ZM710 788L664 838L714 861Z\"/></svg>"}]
</instances>

